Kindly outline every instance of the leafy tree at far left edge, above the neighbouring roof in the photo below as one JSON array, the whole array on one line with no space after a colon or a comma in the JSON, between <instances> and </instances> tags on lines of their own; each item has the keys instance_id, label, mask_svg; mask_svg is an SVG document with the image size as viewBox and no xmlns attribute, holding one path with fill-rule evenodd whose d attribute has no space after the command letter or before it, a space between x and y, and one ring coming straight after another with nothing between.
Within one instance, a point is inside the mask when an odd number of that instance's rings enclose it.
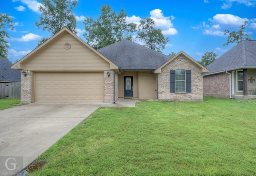
<instances>
[{"instance_id":1,"label":"leafy tree at far left edge, above the neighbouring roof","mask_svg":"<svg viewBox=\"0 0 256 176\"><path fill-rule=\"evenodd\" d=\"M12 19L8 14L0 13L0 57L3 58L7 58L9 48L8 42L5 40L5 38L10 38L8 32L6 32L7 27L13 30Z\"/></svg>"}]
</instances>

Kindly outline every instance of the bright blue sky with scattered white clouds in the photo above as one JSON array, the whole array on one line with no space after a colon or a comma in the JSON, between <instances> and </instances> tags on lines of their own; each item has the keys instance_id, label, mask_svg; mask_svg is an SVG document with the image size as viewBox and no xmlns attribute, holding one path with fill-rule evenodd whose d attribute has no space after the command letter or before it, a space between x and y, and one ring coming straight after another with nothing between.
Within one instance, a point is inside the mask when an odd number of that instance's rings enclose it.
<instances>
[{"instance_id":1,"label":"bright blue sky with scattered white clouds","mask_svg":"<svg viewBox=\"0 0 256 176\"><path fill-rule=\"evenodd\" d=\"M256 0L79 0L74 8L78 36L85 40L83 20L100 15L100 8L109 4L119 12L124 8L127 22L140 22L151 17L156 27L163 30L170 42L163 53L184 51L196 61L206 51L214 51L220 57L234 44L223 46L227 41L225 30L238 31L248 21L246 34L256 40ZM41 36L51 34L38 29L40 0L0 0L0 12L8 14L14 22L14 30L8 31L10 44L8 59L21 59L35 49ZM85 40L86 41L86 40ZM139 40L135 42L141 44Z\"/></svg>"}]
</instances>

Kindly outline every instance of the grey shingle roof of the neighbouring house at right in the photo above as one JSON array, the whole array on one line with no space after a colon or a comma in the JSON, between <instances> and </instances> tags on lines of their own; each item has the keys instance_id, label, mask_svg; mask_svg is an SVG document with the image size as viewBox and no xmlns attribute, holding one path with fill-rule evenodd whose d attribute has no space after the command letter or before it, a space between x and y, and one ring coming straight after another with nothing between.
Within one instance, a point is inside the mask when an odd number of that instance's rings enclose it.
<instances>
[{"instance_id":1,"label":"grey shingle roof of the neighbouring house at right","mask_svg":"<svg viewBox=\"0 0 256 176\"><path fill-rule=\"evenodd\" d=\"M256 68L256 40L243 40L206 66L210 75L242 68Z\"/></svg>"}]
</instances>

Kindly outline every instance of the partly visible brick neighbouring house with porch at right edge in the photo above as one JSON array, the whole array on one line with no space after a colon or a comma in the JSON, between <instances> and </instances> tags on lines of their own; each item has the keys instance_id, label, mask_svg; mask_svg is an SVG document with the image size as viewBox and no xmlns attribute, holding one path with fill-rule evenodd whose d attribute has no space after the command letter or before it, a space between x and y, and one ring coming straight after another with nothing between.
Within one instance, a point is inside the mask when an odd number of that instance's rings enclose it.
<instances>
[{"instance_id":1,"label":"partly visible brick neighbouring house with porch at right edge","mask_svg":"<svg viewBox=\"0 0 256 176\"><path fill-rule=\"evenodd\" d=\"M256 40L240 42L206 68L204 96L256 98Z\"/></svg>"}]
</instances>

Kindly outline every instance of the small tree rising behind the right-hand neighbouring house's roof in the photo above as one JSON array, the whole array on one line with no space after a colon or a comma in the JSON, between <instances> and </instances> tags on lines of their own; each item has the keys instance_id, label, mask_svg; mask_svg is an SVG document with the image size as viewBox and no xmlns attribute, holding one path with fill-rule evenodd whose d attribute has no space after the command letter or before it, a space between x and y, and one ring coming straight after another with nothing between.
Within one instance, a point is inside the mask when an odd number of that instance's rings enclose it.
<instances>
[{"instance_id":1,"label":"small tree rising behind the right-hand neighbouring house's roof","mask_svg":"<svg viewBox=\"0 0 256 176\"><path fill-rule=\"evenodd\" d=\"M244 24L242 24L242 26L239 27L240 30L238 30L238 32L230 32L229 30L225 30L224 35L228 35L228 40L226 44L223 44L223 46L231 43L239 44L240 42L242 42L242 40L251 40L248 34L244 34L244 30L247 24L248 22L244 22Z\"/></svg>"}]
</instances>

